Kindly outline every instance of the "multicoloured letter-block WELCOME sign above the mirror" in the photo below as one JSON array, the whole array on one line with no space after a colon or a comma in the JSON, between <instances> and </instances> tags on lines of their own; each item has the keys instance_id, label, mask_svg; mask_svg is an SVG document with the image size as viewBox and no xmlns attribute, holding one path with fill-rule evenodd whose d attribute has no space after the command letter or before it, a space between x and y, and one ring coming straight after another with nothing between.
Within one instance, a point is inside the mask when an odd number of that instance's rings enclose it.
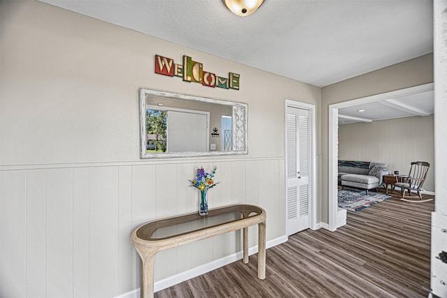
<instances>
[{"instance_id":1,"label":"multicoloured letter-block WELCOME sign above the mirror","mask_svg":"<svg viewBox=\"0 0 447 298\"><path fill-rule=\"evenodd\" d=\"M203 70L203 64L183 56L183 64L175 64L173 59L155 55L155 73L182 77L184 82L195 82L207 87L239 90L240 75L228 73L228 77L220 77L215 73Z\"/></svg>"}]
</instances>

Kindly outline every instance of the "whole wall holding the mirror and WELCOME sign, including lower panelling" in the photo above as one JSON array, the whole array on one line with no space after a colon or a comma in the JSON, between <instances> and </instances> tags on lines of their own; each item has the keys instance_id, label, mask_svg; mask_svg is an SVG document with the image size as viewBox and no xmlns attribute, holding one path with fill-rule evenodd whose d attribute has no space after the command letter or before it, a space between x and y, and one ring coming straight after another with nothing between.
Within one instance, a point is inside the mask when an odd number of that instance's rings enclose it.
<instances>
[{"instance_id":1,"label":"whole wall holding the mirror and WELCOME sign, including lower panelling","mask_svg":"<svg viewBox=\"0 0 447 298\"><path fill-rule=\"evenodd\" d=\"M200 165L218 167L210 207L258 204L268 214L268 241L284 239L284 98L315 104L318 119L319 88L38 1L0 5L0 297L135 290L131 231L196 211L188 179ZM156 75L155 54L239 73L240 91ZM141 161L140 87L248 103L249 154ZM320 148L317 140L318 156ZM156 281L237 253L237 235L160 253Z\"/></svg>"}]
</instances>

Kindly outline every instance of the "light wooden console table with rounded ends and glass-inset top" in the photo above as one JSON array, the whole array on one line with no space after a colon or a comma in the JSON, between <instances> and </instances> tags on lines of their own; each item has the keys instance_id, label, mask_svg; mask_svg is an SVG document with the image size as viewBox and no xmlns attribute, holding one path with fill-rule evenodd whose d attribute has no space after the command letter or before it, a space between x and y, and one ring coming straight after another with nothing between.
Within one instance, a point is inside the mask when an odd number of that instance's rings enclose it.
<instances>
[{"instance_id":1,"label":"light wooden console table with rounded ends and glass-inset top","mask_svg":"<svg viewBox=\"0 0 447 298\"><path fill-rule=\"evenodd\" d=\"M265 279L265 218L261 207L236 204L211 209L207 216L197 212L149 221L132 232L132 244L141 258L140 297L154 297L154 258L167 248L189 244L226 232L243 230L243 262L249 262L248 227L258 225L258 278Z\"/></svg>"}]
</instances>

